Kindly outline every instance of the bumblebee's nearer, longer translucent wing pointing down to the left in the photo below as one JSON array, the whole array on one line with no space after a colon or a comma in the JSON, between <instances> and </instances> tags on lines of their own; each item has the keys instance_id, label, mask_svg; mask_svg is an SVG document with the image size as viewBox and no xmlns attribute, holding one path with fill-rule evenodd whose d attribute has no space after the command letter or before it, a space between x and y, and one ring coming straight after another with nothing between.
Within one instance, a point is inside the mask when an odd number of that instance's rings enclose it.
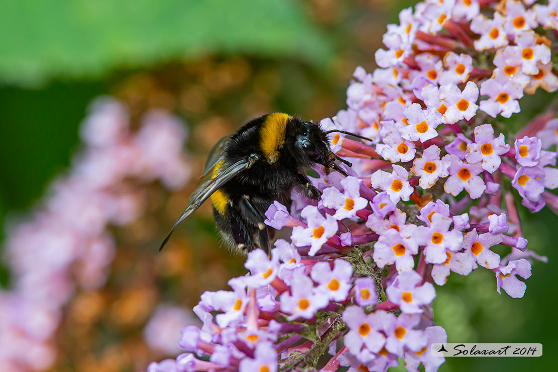
<instances>
[{"instance_id":1,"label":"bumblebee's nearer, longer translucent wing pointing down to the left","mask_svg":"<svg viewBox=\"0 0 558 372\"><path fill-rule=\"evenodd\" d=\"M243 170L252 167L258 158L259 156L257 154L251 154L250 156L243 157L236 162L224 164L219 168L217 176L214 178L207 178L204 182L202 182L190 196L186 209L172 226L169 234L167 234L165 240L161 243L159 250L165 247L165 244L169 241L172 231L176 229L176 226L180 225L180 223L190 216L196 209L198 209L199 206L211 196L211 194L230 181L230 179L237 175L238 172L242 172Z\"/></svg>"}]
</instances>

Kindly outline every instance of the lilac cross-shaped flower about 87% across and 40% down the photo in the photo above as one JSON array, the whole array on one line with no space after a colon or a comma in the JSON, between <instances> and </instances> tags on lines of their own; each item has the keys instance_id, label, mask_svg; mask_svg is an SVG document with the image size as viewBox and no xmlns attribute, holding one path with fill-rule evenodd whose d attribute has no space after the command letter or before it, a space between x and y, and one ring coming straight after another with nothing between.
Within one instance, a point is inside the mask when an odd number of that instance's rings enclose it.
<instances>
[{"instance_id":1,"label":"lilac cross-shaped flower about 87% across and 40% down the photo","mask_svg":"<svg viewBox=\"0 0 558 372\"><path fill-rule=\"evenodd\" d=\"M509 151L504 134L494 138L494 129L490 124L475 127L475 142L467 145L465 160L470 164L479 163L487 172L493 173L501 164L500 155Z\"/></svg>"}]
</instances>

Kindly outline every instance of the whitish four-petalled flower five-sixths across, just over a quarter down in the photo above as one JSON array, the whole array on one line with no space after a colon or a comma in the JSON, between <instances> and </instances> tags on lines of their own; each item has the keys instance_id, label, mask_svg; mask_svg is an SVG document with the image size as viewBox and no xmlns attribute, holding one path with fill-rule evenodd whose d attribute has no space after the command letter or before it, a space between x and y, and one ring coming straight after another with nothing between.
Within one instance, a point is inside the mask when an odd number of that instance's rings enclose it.
<instances>
[{"instance_id":1,"label":"whitish four-petalled flower five-sixths across, just over a quarter down","mask_svg":"<svg viewBox=\"0 0 558 372\"><path fill-rule=\"evenodd\" d=\"M444 123L453 124L461 119L471 119L478 110L477 99L479 88L473 81L468 81L463 91L455 84L446 84L440 87L440 100L444 101L448 110L442 117Z\"/></svg>"}]
</instances>

